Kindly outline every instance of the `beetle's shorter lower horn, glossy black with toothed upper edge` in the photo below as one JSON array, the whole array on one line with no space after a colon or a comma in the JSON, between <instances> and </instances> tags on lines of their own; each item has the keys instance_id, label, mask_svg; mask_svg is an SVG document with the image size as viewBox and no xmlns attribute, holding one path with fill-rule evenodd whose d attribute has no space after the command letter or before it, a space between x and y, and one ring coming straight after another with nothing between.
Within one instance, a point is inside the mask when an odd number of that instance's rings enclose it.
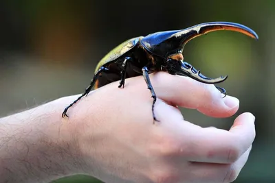
<instances>
[{"instance_id":1,"label":"beetle's shorter lower horn, glossy black with toothed upper edge","mask_svg":"<svg viewBox=\"0 0 275 183\"><path fill-rule=\"evenodd\" d=\"M192 65L188 64L187 62L181 62L180 68L175 71L176 75L186 75L188 77L191 77L194 80L197 80L198 82L203 82L206 84L217 84L224 82L228 76L225 77L217 77L217 78L210 78L206 77L205 75L202 75L200 71L197 71Z\"/></svg>"}]
</instances>

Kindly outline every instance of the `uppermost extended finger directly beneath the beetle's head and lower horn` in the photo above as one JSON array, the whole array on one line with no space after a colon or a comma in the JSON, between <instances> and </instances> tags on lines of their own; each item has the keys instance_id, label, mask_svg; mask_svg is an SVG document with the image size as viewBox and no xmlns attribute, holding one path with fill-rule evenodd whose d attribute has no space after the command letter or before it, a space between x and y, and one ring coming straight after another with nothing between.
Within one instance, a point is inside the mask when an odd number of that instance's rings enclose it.
<instances>
[{"instance_id":1,"label":"uppermost extended finger directly beneath the beetle's head and lower horn","mask_svg":"<svg viewBox=\"0 0 275 183\"><path fill-rule=\"evenodd\" d=\"M197 109L210 117L230 117L239 109L239 99L226 96L213 84L158 72L150 76L157 97L175 106Z\"/></svg>"}]
</instances>

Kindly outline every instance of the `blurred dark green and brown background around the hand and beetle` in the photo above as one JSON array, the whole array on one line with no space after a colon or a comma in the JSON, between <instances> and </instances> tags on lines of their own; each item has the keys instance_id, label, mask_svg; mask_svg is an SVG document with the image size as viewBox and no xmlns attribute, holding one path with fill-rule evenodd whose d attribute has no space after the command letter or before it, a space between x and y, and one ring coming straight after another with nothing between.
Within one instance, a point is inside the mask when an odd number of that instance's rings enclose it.
<instances>
[{"instance_id":1,"label":"blurred dark green and brown background around the hand and beetle","mask_svg":"<svg viewBox=\"0 0 275 183\"><path fill-rule=\"evenodd\" d=\"M237 115L256 116L256 140L235 182L275 182L275 1L1 1L0 115L83 93L97 62L120 42L208 21L242 23L259 41L236 32L192 40L186 62L240 99L234 117L213 119L182 109L185 119L228 129ZM99 182L86 176L59 182Z\"/></svg>"}]
</instances>

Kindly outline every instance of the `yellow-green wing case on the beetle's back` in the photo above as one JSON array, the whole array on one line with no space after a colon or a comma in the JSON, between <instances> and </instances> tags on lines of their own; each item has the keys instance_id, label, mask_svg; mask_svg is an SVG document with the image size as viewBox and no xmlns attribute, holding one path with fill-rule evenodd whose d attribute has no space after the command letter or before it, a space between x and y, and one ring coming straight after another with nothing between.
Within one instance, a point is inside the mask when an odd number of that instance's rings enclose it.
<instances>
[{"instance_id":1,"label":"yellow-green wing case on the beetle's back","mask_svg":"<svg viewBox=\"0 0 275 183\"><path fill-rule=\"evenodd\" d=\"M109 53L107 53L106 56L104 56L104 58L102 58L98 62L98 65L96 66L96 71L98 71L98 69L100 68L100 66L102 66L104 64L107 64L108 62L111 62L111 61L119 58L124 53L126 53L127 51L129 51L130 49L132 49L133 47L135 47L135 45L137 44L137 42L139 42L142 38L143 38L143 36L136 37L136 38L131 38L129 40L125 40L120 45L118 45L117 47L115 47L114 49L112 49Z\"/></svg>"}]
</instances>

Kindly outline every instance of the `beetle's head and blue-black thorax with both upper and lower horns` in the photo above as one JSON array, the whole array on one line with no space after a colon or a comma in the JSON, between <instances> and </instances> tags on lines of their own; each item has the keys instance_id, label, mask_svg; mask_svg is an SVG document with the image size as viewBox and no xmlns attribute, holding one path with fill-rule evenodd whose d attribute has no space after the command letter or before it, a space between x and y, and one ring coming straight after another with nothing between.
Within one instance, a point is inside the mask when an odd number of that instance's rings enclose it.
<instances>
[{"instance_id":1,"label":"beetle's head and blue-black thorax with both upper and lower horns","mask_svg":"<svg viewBox=\"0 0 275 183\"><path fill-rule=\"evenodd\" d=\"M258 35L249 27L239 23L228 22L210 22L201 23L186 29L156 32L144 37L141 42L144 48L155 56L159 56L167 60L168 71L177 75L187 75L199 82L219 83L226 80L227 76L211 79L201 75L193 66L184 62L184 46L186 43L197 36L214 32L218 30L230 30L241 32L247 36L258 39Z\"/></svg>"}]
</instances>

